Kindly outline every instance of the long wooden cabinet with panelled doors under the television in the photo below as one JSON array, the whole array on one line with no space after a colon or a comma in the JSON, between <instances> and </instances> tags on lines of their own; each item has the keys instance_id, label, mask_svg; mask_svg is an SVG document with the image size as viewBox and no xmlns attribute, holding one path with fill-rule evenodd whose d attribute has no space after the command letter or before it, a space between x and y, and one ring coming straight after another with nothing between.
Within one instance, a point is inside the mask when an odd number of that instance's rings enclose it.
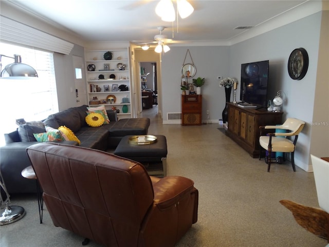
<instances>
[{"instance_id":1,"label":"long wooden cabinet with panelled doors under the television","mask_svg":"<svg viewBox=\"0 0 329 247\"><path fill-rule=\"evenodd\" d=\"M259 157L260 126L282 124L283 112L268 112L261 108L241 108L228 102L228 128L226 135L239 144L253 158Z\"/></svg>"}]
</instances>

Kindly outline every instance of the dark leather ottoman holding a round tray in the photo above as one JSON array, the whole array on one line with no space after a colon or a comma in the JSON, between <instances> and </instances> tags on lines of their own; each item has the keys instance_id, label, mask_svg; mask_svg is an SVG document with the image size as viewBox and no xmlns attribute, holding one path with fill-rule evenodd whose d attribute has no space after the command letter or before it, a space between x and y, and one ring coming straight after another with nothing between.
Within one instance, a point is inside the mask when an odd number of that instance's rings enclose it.
<instances>
[{"instance_id":1,"label":"dark leather ottoman holding a round tray","mask_svg":"<svg viewBox=\"0 0 329 247\"><path fill-rule=\"evenodd\" d=\"M154 135L157 140L153 144L134 145L129 143L132 135L124 136L116 150L115 155L140 162L150 175L167 175L167 139L164 135ZM160 165L160 169L159 169Z\"/></svg>"}]
</instances>

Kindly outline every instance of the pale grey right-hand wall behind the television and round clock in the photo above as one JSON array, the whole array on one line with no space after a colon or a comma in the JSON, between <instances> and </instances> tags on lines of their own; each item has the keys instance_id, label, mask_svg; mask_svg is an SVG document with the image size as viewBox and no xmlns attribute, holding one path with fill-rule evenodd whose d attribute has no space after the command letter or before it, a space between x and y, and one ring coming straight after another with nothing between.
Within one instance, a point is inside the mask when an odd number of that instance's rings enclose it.
<instances>
[{"instance_id":1,"label":"pale grey right-hand wall behind the television and round clock","mask_svg":"<svg viewBox=\"0 0 329 247\"><path fill-rule=\"evenodd\" d=\"M279 90L285 92L287 101L282 109L283 120L287 117L295 117L306 122L298 137L295 151L295 163L304 170L308 170L311 143L310 123L313 121L320 24L321 12L318 12L258 37L232 45L230 48L230 74L236 77L241 75L241 63L269 60L268 98L272 99ZM309 66L306 76L297 81L289 77L287 63L291 51L299 47L305 48L308 52Z\"/></svg>"}]
</instances>

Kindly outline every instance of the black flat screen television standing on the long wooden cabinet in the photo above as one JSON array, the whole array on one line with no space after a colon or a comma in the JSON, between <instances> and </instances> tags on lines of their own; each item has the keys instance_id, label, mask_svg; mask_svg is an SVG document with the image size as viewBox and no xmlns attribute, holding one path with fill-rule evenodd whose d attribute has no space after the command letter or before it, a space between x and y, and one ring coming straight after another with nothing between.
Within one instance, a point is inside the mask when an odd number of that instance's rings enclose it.
<instances>
[{"instance_id":1,"label":"black flat screen television standing on the long wooden cabinet","mask_svg":"<svg viewBox=\"0 0 329 247\"><path fill-rule=\"evenodd\" d=\"M240 100L267 107L268 60L241 64Z\"/></svg>"}]
</instances>

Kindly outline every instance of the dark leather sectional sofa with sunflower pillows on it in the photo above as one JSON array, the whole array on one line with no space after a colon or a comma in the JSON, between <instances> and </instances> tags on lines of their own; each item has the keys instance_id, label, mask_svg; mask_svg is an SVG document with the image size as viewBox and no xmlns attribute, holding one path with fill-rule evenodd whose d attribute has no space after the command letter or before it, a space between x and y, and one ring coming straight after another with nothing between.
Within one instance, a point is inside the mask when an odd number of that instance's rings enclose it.
<instances>
[{"instance_id":1,"label":"dark leather sectional sofa with sunflower pillows on it","mask_svg":"<svg viewBox=\"0 0 329 247\"><path fill-rule=\"evenodd\" d=\"M117 120L115 111L107 110L110 122L100 127L90 127L85 121L87 105L69 108L48 116L43 123L45 126L58 129L66 126L74 132L81 144L80 146L106 151L114 149L126 135L148 134L149 118L126 118ZM25 128L23 128L25 127ZM28 128L27 128L28 127ZM0 147L0 169L6 188L9 193L30 193L36 191L35 181L25 179L21 172L31 165L26 148L38 142L29 142L29 137L24 137L22 132L34 127L20 126L16 131L5 134L6 145ZM30 134L31 135L31 134ZM28 140L27 140L28 139ZM63 141L64 144L77 145L73 141Z\"/></svg>"}]
</instances>

